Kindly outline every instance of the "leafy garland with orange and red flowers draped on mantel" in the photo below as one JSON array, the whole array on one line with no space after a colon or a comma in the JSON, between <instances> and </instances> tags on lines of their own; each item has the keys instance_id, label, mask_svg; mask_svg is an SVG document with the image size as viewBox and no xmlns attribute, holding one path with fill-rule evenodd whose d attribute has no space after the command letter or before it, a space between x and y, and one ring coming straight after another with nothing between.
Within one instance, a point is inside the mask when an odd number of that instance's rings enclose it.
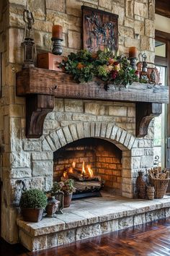
<instances>
[{"instance_id":1,"label":"leafy garland with orange and red flowers draped on mantel","mask_svg":"<svg viewBox=\"0 0 170 256\"><path fill-rule=\"evenodd\" d=\"M91 54L81 50L77 54L71 53L66 61L61 62L66 73L72 74L73 79L80 82L89 82L98 77L104 81L104 88L108 85L126 87L138 82L135 69L130 66L126 56L114 56L111 51L97 51Z\"/></svg>"}]
</instances>

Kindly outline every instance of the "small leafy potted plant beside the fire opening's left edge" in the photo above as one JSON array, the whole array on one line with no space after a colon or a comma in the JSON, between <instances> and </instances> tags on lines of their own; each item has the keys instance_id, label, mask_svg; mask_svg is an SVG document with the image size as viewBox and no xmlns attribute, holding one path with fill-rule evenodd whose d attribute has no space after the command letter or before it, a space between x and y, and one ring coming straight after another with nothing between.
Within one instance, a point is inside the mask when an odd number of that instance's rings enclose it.
<instances>
[{"instance_id":1,"label":"small leafy potted plant beside the fire opening's left edge","mask_svg":"<svg viewBox=\"0 0 170 256\"><path fill-rule=\"evenodd\" d=\"M75 187L73 187L73 179L66 179L63 182L54 182L53 187L51 189L52 194L55 192L63 192L64 193L64 208L67 208L71 204L71 198L73 192L75 192Z\"/></svg>"}]
</instances>

